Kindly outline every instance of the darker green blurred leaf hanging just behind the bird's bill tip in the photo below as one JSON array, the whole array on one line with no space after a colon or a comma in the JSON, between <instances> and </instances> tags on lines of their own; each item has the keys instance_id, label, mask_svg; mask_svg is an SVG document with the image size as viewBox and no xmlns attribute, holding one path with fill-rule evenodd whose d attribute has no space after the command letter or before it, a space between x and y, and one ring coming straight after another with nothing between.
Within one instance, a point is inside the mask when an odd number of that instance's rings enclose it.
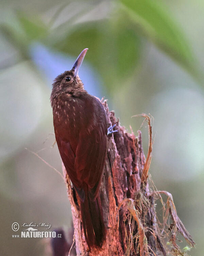
<instances>
[{"instance_id":1,"label":"darker green blurred leaf hanging just behind the bird's bill tip","mask_svg":"<svg viewBox=\"0 0 204 256\"><path fill-rule=\"evenodd\" d=\"M101 20L72 27L67 38L53 45L74 54L88 47L86 60L92 63L110 91L123 85L121 79L132 74L139 57L139 38L124 20Z\"/></svg>"}]
</instances>

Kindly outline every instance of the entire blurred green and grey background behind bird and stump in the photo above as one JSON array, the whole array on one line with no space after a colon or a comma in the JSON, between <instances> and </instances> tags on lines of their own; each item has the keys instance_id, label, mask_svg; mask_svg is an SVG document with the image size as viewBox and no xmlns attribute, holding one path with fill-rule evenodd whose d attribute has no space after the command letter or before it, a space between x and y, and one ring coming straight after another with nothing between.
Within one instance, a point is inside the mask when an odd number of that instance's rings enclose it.
<instances>
[{"instance_id":1,"label":"entire blurred green and grey background behind bird and stump","mask_svg":"<svg viewBox=\"0 0 204 256\"><path fill-rule=\"evenodd\" d=\"M0 254L50 255L46 240L12 238L13 222L71 226L62 177L25 148L61 171L54 135L48 138L51 84L88 47L79 71L88 92L108 99L121 125L136 134L143 119L131 116L154 117L152 179L173 195L197 243L189 254L202 255L204 2L0 3ZM145 126L142 138L147 154Z\"/></svg>"}]
</instances>

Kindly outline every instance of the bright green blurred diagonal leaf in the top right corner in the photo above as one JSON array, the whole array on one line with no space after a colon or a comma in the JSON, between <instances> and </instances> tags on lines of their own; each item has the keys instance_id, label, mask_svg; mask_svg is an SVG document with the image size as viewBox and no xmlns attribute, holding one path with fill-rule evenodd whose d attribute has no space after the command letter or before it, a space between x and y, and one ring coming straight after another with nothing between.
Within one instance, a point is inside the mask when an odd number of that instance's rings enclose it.
<instances>
[{"instance_id":1,"label":"bright green blurred diagonal leaf in the top right corner","mask_svg":"<svg viewBox=\"0 0 204 256\"><path fill-rule=\"evenodd\" d=\"M146 34L160 49L195 74L194 56L183 33L165 11L160 1L120 0L135 29Z\"/></svg>"}]
</instances>

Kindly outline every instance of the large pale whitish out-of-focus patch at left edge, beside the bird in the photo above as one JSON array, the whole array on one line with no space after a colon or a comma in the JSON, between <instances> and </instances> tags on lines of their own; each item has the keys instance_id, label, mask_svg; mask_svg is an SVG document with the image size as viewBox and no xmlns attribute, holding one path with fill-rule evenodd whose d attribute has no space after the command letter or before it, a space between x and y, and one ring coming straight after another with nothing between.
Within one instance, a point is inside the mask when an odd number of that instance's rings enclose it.
<instances>
[{"instance_id":1,"label":"large pale whitish out-of-focus patch at left edge, beside the bird","mask_svg":"<svg viewBox=\"0 0 204 256\"><path fill-rule=\"evenodd\" d=\"M0 83L1 159L22 146L49 113L50 104L45 85L30 61L3 69Z\"/></svg>"}]
</instances>

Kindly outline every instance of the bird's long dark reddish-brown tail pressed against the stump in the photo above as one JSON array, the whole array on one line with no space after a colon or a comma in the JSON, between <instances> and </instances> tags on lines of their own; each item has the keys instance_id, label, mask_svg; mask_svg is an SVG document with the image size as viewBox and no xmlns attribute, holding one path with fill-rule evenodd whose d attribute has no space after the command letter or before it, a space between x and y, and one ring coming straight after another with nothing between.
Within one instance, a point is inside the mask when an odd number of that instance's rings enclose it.
<instances>
[{"instance_id":1,"label":"bird's long dark reddish-brown tail pressed against the stump","mask_svg":"<svg viewBox=\"0 0 204 256\"><path fill-rule=\"evenodd\" d=\"M84 202L80 203L82 225L88 247L101 247L105 237L105 225L100 197L98 195L93 201L87 191Z\"/></svg>"}]
</instances>

